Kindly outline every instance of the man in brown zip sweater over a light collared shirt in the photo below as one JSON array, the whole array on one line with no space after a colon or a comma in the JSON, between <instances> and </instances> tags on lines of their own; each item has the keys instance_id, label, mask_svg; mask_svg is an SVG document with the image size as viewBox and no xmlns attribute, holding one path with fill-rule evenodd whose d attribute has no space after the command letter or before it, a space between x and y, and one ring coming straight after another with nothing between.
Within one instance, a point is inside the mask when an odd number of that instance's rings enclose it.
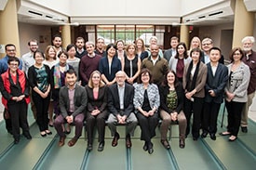
<instances>
[{"instance_id":1,"label":"man in brown zip sweater over a light collared shirt","mask_svg":"<svg viewBox=\"0 0 256 170\"><path fill-rule=\"evenodd\" d=\"M168 72L167 59L161 58L159 55L159 47L151 46L151 56L142 60L141 68L147 68L152 72L152 79L156 85L160 85Z\"/></svg>"}]
</instances>

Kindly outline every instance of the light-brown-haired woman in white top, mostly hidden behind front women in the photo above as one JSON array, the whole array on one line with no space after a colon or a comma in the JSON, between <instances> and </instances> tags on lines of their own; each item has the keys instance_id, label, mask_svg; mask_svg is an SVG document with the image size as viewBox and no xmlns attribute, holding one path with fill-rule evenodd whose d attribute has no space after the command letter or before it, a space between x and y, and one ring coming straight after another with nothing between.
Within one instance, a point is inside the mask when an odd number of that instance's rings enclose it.
<instances>
[{"instance_id":1,"label":"light-brown-haired woman in white top, mostly hidden behind front women","mask_svg":"<svg viewBox=\"0 0 256 170\"><path fill-rule=\"evenodd\" d=\"M46 59L43 61L43 64L47 65L51 69L55 64L59 62L57 58L57 51L54 46L47 46L45 50ZM50 94L51 96L51 94ZM50 98L49 107L48 107L48 116L49 116L49 126L53 126L53 99Z\"/></svg>"}]
</instances>

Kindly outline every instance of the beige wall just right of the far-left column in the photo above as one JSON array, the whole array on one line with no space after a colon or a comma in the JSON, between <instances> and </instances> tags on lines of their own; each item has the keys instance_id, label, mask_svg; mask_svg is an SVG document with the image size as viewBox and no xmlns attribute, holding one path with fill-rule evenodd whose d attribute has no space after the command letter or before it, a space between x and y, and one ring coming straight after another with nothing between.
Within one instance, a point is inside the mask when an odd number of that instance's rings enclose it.
<instances>
[{"instance_id":1,"label":"beige wall just right of the far-left column","mask_svg":"<svg viewBox=\"0 0 256 170\"><path fill-rule=\"evenodd\" d=\"M36 39L38 41L39 49L43 52L46 47L51 44L51 31L49 26L19 22L19 34L21 55L29 51L28 42L31 39Z\"/></svg>"}]
</instances>

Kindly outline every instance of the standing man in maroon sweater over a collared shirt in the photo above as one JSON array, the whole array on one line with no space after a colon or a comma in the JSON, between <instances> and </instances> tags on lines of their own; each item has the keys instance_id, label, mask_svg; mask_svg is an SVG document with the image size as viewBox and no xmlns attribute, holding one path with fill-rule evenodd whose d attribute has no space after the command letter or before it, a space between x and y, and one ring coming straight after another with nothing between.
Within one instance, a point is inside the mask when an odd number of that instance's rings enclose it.
<instances>
[{"instance_id":1,"label":"standing man in maroon sweater over a collared shirt","mask_svg":"<svg viewBox=\"0 0 256 170\"><path fill-rule=\"evenodd\" d=\"M98 70L101 56L95 54L94 44L92 42L86 43L88 54L86 54L81 60L79 65L80 77L82 85L88 85L88 79L91 72Z\"/></svg>"}]
</instances>

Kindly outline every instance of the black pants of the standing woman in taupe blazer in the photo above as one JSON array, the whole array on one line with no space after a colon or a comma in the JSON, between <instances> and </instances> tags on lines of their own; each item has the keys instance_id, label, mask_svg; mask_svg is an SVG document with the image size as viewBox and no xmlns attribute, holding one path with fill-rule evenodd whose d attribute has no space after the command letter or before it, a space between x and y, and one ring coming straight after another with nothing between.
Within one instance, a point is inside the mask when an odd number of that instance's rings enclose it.
<instances>
[{"instance_id":1,"label":"black pants of the standing woman in taupe blazer","mask_svg":"<svg viewBox=\"0 0 256 170\"><path fill-rule=\"evenodd\" d=\"M195 98L194 101L185 98L184 113L187 119L186 136L190 132L190 119L193 113L192 136L199 137L199 130L201 125L201 113L204 104L204 98Z\"/></svg>"}]
</instances>

